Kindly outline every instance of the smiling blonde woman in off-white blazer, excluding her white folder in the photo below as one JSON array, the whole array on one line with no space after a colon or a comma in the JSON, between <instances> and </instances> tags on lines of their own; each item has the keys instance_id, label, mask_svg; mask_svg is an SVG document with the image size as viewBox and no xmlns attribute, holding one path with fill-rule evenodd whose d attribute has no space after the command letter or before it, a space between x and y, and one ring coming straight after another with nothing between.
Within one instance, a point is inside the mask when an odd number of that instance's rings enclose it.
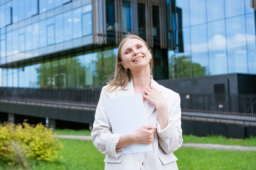
<instances>
[{"instance_id":1,"label":"smiling blonde woman in off-white blazer, excluding her white folder","mask_svg":"<svg viewBox=\"0 0 256 170\"><path fill-rule=\"evenodd\" d=\"M176 170L173 152L182 145L180 95L153 80L148 44L127 33L119 44L115 76L104 86L95 112L92 142L106 154L105 170ZM148 125L126 135L112 133L104 100L142 94ZM121 111L120 111L121 112ZM123 153L131 144L152 144L153 150Z\"/></svg>"}]
</instances>

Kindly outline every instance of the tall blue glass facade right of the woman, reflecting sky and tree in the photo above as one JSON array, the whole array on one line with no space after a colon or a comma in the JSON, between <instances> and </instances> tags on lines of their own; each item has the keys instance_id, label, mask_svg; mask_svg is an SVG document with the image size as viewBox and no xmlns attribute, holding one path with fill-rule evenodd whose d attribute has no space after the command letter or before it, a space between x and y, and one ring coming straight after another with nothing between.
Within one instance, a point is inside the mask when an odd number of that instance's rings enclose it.
<instances>
[{"instance_id":1,"label":"tall blue glass facade right of the woman, reflecting sky and tree","mask_svg":"<svg viewBox=\"0 0 256 170\"><path fill-rule=\"evenodd\" d=\"M176 0L171 5L177 26L170 28L169 78L256 74L255 11L249 0Z\"/></svg>"}]
</instances>

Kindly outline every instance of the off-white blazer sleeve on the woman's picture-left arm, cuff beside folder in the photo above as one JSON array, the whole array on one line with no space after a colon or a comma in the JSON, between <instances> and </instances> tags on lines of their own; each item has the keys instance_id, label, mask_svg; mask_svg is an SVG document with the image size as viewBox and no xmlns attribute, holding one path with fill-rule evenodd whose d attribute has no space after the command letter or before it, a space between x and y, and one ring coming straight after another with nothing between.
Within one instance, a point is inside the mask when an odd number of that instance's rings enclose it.
<instances>
[{"instance_id":1,"label":"off-white blazer sleeve on the woman's picture-left arm, cuff beside folder","mask_svg":"<svg viewBox=\"0 0 256 170\"><path fill-rule=\"evenodd\" d=\"M108 92L103 87L92 126L92 143L101 153L118 158L122 154L124 148L116 150L116 145L119 142L121 134L112 133L105 106L105 100L108 98Z\"/></svg>"}]
</instances>

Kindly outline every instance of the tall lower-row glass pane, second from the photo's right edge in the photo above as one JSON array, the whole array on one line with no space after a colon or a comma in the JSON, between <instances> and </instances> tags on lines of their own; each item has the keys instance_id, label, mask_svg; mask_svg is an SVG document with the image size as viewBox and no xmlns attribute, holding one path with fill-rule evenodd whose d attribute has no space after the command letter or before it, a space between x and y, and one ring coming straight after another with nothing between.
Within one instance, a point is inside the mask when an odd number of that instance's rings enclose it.
<instances>
[{"instance_id":1,"label":"tall lower-row glass pane, second from the photo's right edge","mask_svg":"<svg viewBox=\"0 0 256 170\"><path fill-rule=\"evenodd\" d=\"M245 17L227 19L229 73L247 73Z\"/></svg>"}]
</instances>

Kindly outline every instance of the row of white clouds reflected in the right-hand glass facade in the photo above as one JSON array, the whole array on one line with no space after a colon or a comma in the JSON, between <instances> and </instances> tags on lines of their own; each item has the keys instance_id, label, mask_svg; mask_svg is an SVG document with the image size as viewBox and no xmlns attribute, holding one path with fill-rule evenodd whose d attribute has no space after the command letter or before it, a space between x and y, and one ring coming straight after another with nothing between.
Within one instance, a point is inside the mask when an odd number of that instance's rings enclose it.
<instances>
[{"instance_id":1,"label":"row of white clouds reflected in the right-hand glass facade","mask_svg":"<svg viewBox=\"0 0 256 170\"><path fill-rule=\"evenodd\" d=\"M236 34L234 37L226 39L223 35L214 35L212 39L209 39L207 43L201 44L192 44L191 49L192 52L207 52L209 45L209 50L225 50L226 49L226 42L229 48L236 48L239 46L245 46L249 44L255 43L255 35L250 34ZM189 49L188 45L186 46Z\"/></svg>"}]
</instances>

